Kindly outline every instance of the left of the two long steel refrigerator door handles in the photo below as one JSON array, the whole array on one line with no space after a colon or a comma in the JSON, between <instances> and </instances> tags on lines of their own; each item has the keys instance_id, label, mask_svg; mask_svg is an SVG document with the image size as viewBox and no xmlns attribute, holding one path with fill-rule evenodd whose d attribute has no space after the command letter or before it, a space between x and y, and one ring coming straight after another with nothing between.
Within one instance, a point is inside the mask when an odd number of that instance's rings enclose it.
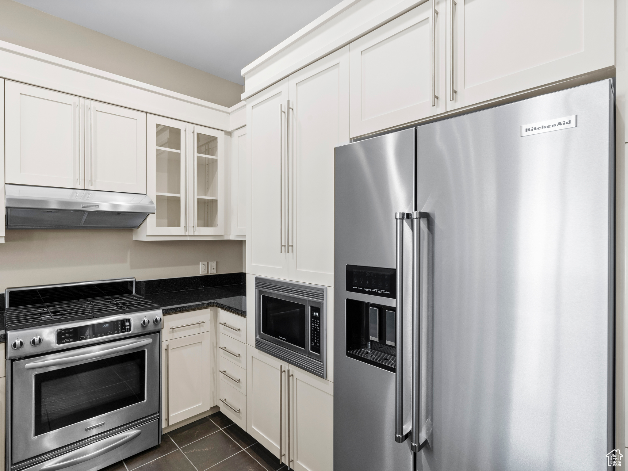
<instances>
[{"instance_id":1,"label":"left of the two long steel refrigerator door handles","mask_svg":"<svg viewBox=\"0 0 628 471\"><path fill-rule=\"evenodd\" d=\"M410 219L409 213L395 213L397 226L396 236L396 264L395 264L395 310L397 322L395 325L395 342L397 347L395 365L395 427L394 440L403 443L408 435L403 433L403 225L404 219Z\"/></svg>"}]
</instances>

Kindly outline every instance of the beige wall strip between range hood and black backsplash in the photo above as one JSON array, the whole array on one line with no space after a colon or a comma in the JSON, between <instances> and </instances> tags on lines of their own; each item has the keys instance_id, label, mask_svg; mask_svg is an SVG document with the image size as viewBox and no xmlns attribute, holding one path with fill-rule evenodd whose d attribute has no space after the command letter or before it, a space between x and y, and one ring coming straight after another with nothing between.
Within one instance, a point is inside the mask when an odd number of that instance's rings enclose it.
<instances>
[{"instance_id":1,"label":"beige wall strip between range hood and black backsplash","mask_svg":"<svg viewBox=\"0 0 628 471\"><path fill-rule=\"evenodd\" d=\"M242 241L133 241L129 229L7 230L4 240L0 292L124 276L196 276L198 264L210 261L217 261L217 273L242 271Z\"/></svg>"}]
</instances>

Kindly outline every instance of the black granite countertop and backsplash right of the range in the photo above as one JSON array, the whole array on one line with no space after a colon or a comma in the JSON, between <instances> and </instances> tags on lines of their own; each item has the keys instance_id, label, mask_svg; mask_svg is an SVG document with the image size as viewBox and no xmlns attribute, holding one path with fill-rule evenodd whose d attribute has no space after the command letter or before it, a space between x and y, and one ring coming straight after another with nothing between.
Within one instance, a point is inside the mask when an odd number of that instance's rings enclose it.
<instances>
[{"instance_id":1,"label":"black granite countertop and backsplash right of the range","mask_svg":"<svg viewBox=\"0 0 628 471\"><path fill-rule=\"evenodd\" d=\"M244 273L138 281L136 292L161 306L164 315L219 307L246 317Z\"/></svg>"}]
</instances>

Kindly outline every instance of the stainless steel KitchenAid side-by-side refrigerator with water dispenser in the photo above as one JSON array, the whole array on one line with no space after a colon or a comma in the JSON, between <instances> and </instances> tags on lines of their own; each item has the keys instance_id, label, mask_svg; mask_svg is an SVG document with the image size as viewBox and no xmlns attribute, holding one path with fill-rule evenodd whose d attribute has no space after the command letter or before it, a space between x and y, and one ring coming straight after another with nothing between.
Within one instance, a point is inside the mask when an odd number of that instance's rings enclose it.
<instances>
[{"instance_id":1,"label":"stainless steel KitchenAid side-by-side refrigerator with water dispenser","mask_svg":"<svg viewBox=\"0 0 628 471\"><path fill-rule=\"evenodd\" d=\"M603 470L614 92L335 149L334 468Z\"/></svg>"}]
</instances>

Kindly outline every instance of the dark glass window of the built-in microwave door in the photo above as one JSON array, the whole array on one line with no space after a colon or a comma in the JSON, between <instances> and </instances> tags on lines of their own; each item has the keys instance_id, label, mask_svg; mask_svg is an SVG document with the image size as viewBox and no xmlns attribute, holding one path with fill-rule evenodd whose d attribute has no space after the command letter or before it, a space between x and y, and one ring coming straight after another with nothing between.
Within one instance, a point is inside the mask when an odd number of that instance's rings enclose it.
<instances>
[{"instance_id":1,"label":"dark glass window of the built-in microwave door","mask_svg":"<svg viewBox=\"0 0 628 471\"><path fill-rule=\"evenodd\" d=\"M262 332L305 349L305 305L263 295Z\"/></svg>"}]
</instances>

